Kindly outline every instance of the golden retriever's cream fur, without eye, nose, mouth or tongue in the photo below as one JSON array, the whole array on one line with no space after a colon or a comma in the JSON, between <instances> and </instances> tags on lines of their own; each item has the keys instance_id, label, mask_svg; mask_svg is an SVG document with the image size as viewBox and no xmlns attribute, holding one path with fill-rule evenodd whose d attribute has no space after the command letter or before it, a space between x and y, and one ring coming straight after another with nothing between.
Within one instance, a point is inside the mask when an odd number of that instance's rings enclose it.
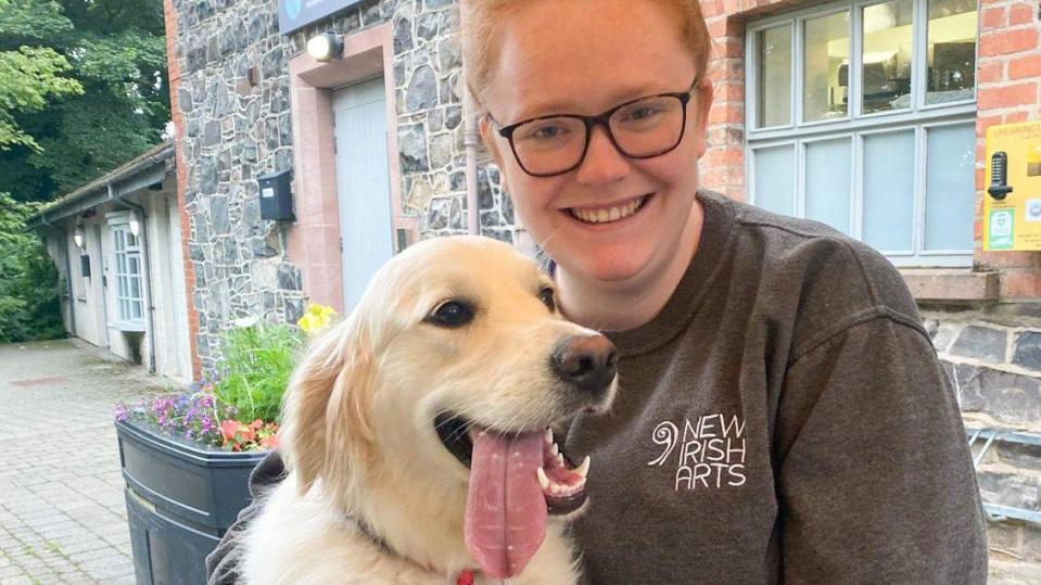
<instances>
[{"instance_id":1,"label":"golden retriever's cream fur, without eye, nose, mouth or tongue","mask_svg":"<svg viewBox=\"0 0 1041 585\"><path fill-rule=\"evenodd\" d=\"M533 262L484 238L424 241L388 263L293 376L281 434L291 473L247 530L246 582L444 584L477 568L464 543L469 471L433 420L448 410L533 431L589 406L549 369L560 340L593 334L539 301L549 285ZM471 323L424 322L449 298L477 306ZM563 522L550 517L509 583L574 583L572 559Z\"/></svg>"}]
</instances>

